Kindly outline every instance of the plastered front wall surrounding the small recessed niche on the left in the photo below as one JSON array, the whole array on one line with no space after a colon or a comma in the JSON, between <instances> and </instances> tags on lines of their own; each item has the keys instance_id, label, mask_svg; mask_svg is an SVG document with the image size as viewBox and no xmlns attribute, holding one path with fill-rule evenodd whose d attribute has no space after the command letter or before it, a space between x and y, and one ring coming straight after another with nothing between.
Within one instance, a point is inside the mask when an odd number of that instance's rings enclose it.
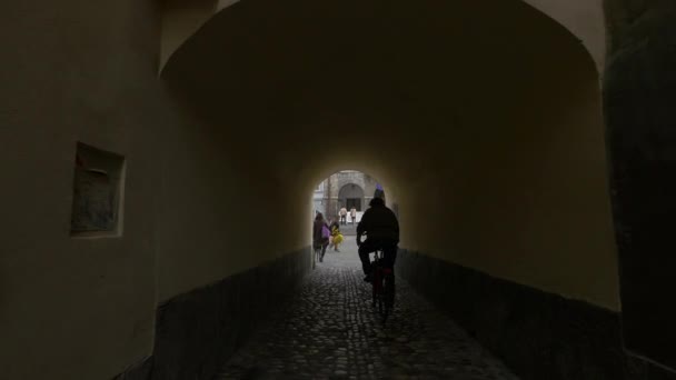
<instances>
[{"instance_id":1,"label":"plastered front wall surrounding the small recessed niche on the left","mask_svg":"<svg viewBox=\"0 0 676 380\"><path fill-rule=\"evenodd\" d=\"M147 2L3 2L0 371L101 379L148 354L155 318L158 30ZM125 234L70 237L76 143L125 156Z\"/></svg>"}]
</instances>

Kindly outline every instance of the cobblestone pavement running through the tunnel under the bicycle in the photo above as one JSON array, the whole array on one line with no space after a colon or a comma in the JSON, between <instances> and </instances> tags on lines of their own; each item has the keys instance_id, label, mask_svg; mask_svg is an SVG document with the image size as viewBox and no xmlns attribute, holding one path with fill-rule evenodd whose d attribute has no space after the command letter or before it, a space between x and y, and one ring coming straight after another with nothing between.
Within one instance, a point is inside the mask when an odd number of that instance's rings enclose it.
<instances>
[{"instance_id":1,"label":"cobblestone pavement running through the tunnel under the bicycle","mask_svg":"<svg viewBox=\"0 0 676 380\"><path fill-rule=\"evenodd\" d=\"M327 251L299 294L223 366L222 379L518 380L397 279L382 326L362 281L355 238Z\"/></svg>"}]
</instances>

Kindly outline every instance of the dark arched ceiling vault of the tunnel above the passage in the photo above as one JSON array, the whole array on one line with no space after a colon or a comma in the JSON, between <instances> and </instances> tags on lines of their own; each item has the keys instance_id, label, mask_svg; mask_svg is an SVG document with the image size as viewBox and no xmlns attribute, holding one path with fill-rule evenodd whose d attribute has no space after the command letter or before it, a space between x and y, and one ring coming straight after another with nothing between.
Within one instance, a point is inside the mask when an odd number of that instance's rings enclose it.
<instances>
[{"instance_id":1,"label":"dark arched ceiling vault of the tunnel above the passage","mask_svg":"<svg viewBox=\"0 0 676 380\"><path fill-rule=\"evenodd\" d=\"M280 179L305 177L308 189L345 167L395 188L422 169L460 168L475 154L466 141L549 117L559 104L536 103L557 102L580 76L598 83L587 51L533 7L495 1L487 13L485 3L439 0L241 1L162 72L222 126L230 149L255 142L261 167L274 157ZM395 151L378 147L385 139Z\"/></svg>"}]
</instances>

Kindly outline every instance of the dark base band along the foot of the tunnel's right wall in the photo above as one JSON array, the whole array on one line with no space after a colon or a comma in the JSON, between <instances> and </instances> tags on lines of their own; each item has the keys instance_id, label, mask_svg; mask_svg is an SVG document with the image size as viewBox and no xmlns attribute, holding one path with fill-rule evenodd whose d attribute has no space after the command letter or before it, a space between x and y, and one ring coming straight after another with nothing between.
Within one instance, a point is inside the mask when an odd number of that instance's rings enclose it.
<instances>
[{"instance_id":1,"label":"dark base band along the foot of the tunnel's right wall","mask_svg":"<svg viewBox=\"0 0 676 380\"><path fill-rule=\"evenodd\" d=\"M624 351L616 312L418 252L400 250L397 260L397 276L523 380L676 379Z\"/></svg>"}]
</instances>

